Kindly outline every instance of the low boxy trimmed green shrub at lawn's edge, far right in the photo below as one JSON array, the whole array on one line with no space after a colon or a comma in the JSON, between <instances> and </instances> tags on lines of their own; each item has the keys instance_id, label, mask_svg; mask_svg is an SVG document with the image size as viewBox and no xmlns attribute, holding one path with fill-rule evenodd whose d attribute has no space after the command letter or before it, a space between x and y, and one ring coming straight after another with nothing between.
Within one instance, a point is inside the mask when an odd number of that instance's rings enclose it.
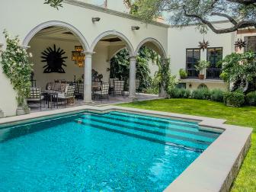
<instances>
[{"instance_id":1,"label":"low boxy trimmed green shrub at lawn's edge, far right","mask_svg":"<svg viewBox=\"0 0 256 192\"><path fill-rule=\"evenodd\" d=\"M245 95L240 91L224 93L224 103L227 106L241 107L245 103Z\"/></svg>"}]
</instances>

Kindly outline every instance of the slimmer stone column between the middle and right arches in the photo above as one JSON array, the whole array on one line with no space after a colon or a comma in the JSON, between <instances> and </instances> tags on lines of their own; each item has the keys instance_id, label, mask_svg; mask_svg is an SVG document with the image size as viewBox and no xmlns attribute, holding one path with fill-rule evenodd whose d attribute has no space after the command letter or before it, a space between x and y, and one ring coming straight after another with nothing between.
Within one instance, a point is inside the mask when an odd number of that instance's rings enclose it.
<instances>
[{"instance_id":1,"label":"slimmer stone column between the middle and right arches","mask_svg":"<svg viewBox=\"0 0 256 192\"><path fill-rule=\"evenodd\" d=\"M129 98L136 98L136 56L130 57Z\"/></svg>"}]
</instances>

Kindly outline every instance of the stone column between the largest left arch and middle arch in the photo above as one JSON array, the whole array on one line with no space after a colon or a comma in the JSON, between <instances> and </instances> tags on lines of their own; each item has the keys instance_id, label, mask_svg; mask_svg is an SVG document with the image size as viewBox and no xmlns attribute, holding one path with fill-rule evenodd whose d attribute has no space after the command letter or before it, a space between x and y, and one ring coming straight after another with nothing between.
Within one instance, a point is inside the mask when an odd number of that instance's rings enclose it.
<instances>
[{"instance_id":1,"label":"stone column between the largest left arch and middle arch","mask_svg":"<svg viewBox=\"0 0 256 192\"><path fill-rule=\"evenodd\" d=\"M91 56L94 52L85 52L84 102L91 103Z\"/></svg>"}]
</instances>

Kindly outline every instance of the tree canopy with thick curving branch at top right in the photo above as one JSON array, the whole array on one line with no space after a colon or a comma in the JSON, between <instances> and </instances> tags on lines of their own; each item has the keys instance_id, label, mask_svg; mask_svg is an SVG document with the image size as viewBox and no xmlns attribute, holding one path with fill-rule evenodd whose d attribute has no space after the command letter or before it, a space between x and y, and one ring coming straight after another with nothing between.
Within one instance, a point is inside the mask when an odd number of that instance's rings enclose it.
<instances>
[{"instance_id":1,"label":"tree canopy with thick curving branch at top right","mask_svg":"<svg viewBox=\"0 0 256 192\"><path fill-rule=\"evenodd\" d=\"M136 0L135 5L137 15L146 22L167 12L171 24L206 25L216 34L256 27L256 0ZM225 18L231 26L215 27L212 21L216 16Z\"/></svg>"}]
</instances>

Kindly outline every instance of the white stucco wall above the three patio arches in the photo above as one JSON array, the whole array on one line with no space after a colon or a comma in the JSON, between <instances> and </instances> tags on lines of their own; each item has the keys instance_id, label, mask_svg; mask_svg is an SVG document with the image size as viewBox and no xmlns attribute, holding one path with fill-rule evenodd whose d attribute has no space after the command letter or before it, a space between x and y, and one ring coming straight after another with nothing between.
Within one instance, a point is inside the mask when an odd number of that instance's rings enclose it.
<instances>
[{"instance_id":1,"label":"white stucco wall above the three patio arches","mask_svg":"<svg viewBox=\"0 0 256 192\"><path fill-rule=\"evenodd\" d=\"M66 3L63 3L64 7L57 11L49 5L43 5L41 1L1 1L4 9L0 11L0 17L5 19L1 20L0 30L6 28L10 34L18 34L21 40L24 40L30 30L39 24L46 21L63 21L78 29L88 41L89 46L100 34L114 30L130 40L133 50L136 50L139 43L146 37L152 37L162 43L167 51L168 28L165 27L142 24L142 22L130 18L118 17L114 14ZM14 14L18 15L15 16ZM92 23L91 18L93 17L100 17L101 21ZM139 26L140 30L131 30L133 25ZM2 35L0 40L4 41Z\"/></svg>"}]
</instances>

